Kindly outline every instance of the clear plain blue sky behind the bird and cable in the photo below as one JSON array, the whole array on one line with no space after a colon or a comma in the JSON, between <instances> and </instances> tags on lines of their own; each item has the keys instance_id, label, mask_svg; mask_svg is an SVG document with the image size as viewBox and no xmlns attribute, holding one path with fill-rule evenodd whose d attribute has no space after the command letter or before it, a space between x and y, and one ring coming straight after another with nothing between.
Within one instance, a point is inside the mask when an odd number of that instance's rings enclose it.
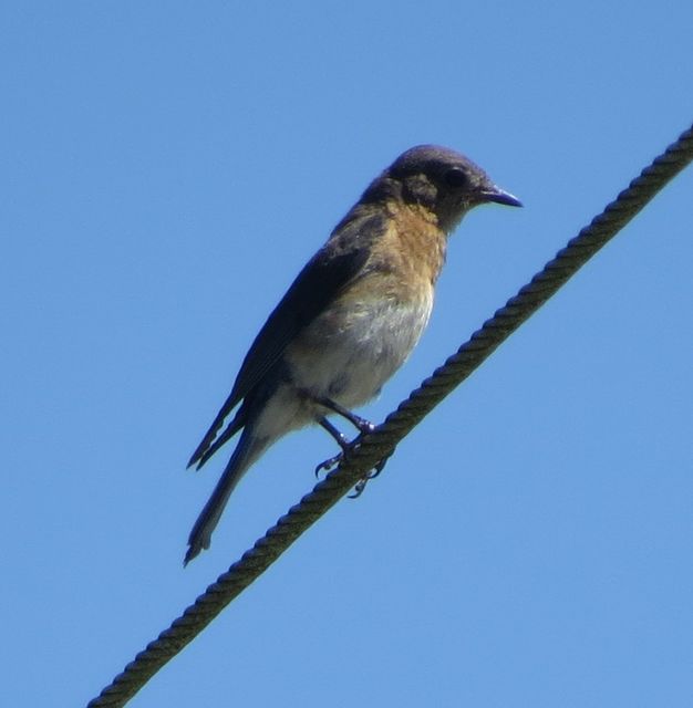
<instances>
[{"instance_id":1,"label":"clear plain blue sky behind the bird and cable","mask_svg":"<svg viewBox=\"0 0 693 708\"><path fill-rule=\"evenodd\" d=\"M693 118L690 2L0 8L8 705L85 704L313 483L296 434L210 551L185 462L399 153L525 202L454 236L396 406ZM690 706L693 170L132 706Z\"/></svg>"}]
</instances>

